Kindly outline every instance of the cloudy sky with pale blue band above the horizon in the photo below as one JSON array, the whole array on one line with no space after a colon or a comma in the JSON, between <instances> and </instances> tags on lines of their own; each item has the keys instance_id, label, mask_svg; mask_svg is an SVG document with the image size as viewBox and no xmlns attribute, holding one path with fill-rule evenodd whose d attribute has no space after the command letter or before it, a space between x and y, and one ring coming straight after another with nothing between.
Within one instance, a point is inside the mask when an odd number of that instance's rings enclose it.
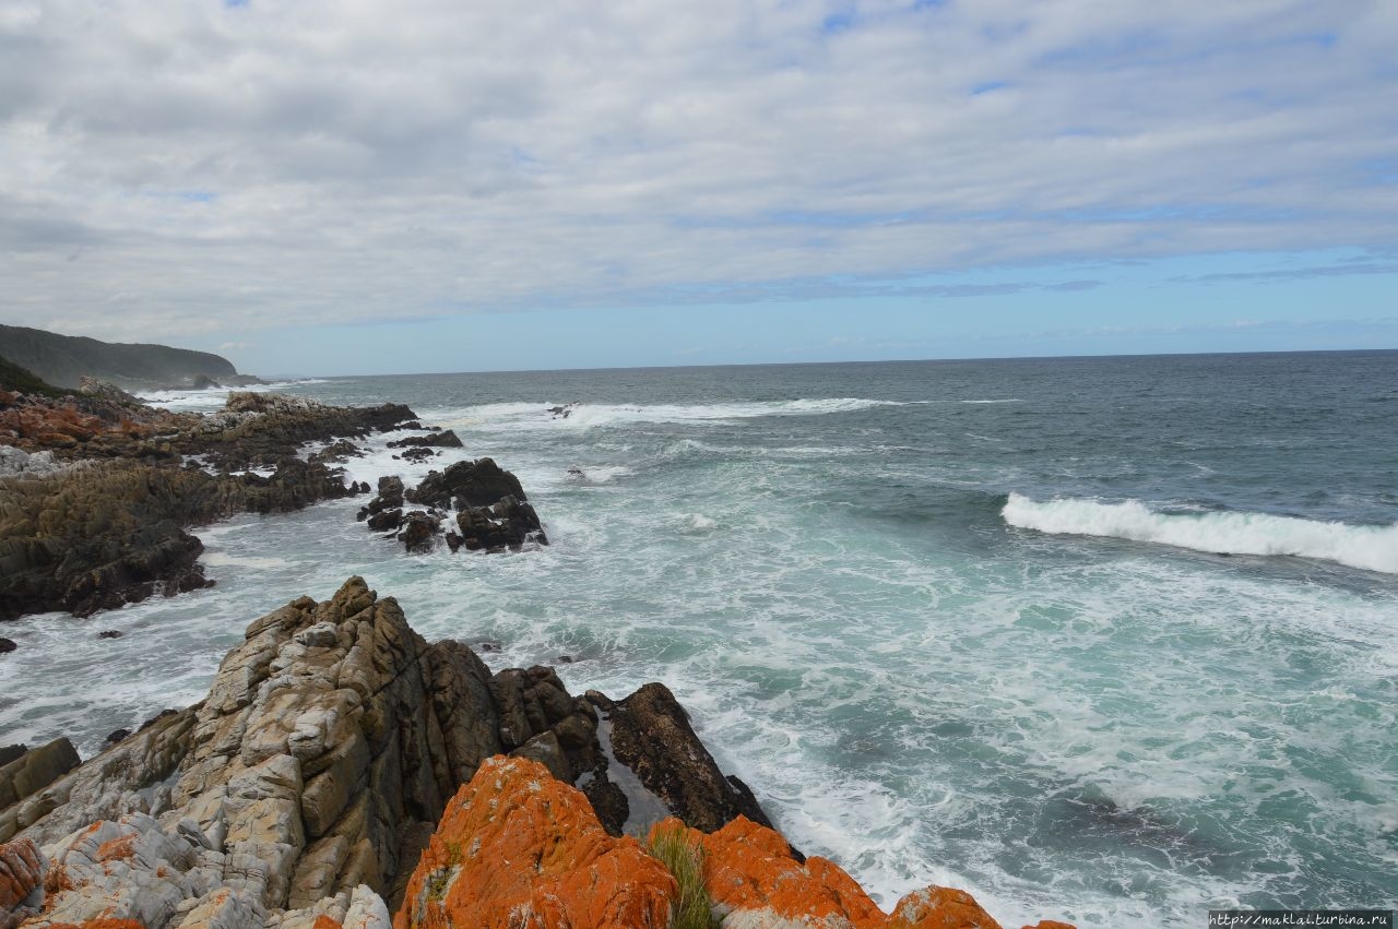
<instances>
[{"instance_id":1,"label":"cloudy sky with pale blue band above the horizon","mask_svg":"<svg viewBox=\"0 0 1398 929\"><path fill-rule=\"evenodd\" d=\"M0 323L403 372L1398 348L1392 0L0 0Z\"/></svg>"}]
</instances>

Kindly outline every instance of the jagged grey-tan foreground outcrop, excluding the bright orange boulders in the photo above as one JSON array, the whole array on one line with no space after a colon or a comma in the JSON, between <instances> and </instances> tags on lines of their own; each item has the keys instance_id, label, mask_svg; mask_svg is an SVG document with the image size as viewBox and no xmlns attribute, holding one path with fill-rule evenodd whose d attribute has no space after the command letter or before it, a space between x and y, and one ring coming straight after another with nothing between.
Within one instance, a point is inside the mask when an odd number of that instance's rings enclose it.
<instances>
[{"instance_id":1,"label":"jagged grey-tan foreground outcrop, excluding the bright orange boulders","mask_svg":"<svg viewBox=\"0 0 1398 929\"><path fill-rule=\"evenodd\" d=\"M688 725L649 728L635 707L651 703L665 704L654 686L612 701L570 696L548 668L492 675L460 643L425 643L396 601L351 578L330 601L253 622L203 703L0 809L18 830L0 861L18 855L32 870L22 842L42 849L34 926L312 929L323 916L386 929L384 901L403 895L447 798L492 756L583 781L589 795L610 785L611 828L576 792L590 847L630 848L614 842L624 826L643 834L671 814L712 821L710 792L728 781ZM635 718L617 725L635 729L654 770L625 768L598 738L628 707ZM696 757L712 767L709 782L661 799L654 791L677 778L661 745L684 770Z\"/></svg>"}]
</instances>

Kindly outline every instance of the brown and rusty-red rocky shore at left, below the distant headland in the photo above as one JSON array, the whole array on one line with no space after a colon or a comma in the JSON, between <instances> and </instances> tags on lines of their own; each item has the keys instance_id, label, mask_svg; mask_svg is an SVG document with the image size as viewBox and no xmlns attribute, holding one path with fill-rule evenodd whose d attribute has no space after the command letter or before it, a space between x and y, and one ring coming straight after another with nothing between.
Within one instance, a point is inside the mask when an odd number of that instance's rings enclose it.
<instances>
[{"instance_id":1,"label":"brown and rusty-red rocky shore at left, below the distant headland","mask_svg":"<svg viewBox=\"0 0 1398 929\"><path fill-rule=\"evenodd\" d=\"M85 616L204 587L203 546L186 528L345 496L343 475L298 448L412 416L277 394L232 394L224 412L194 416L0 391L0 619ZM186 460L221 471L180 467Z\"/></svg>"}]
</instances>

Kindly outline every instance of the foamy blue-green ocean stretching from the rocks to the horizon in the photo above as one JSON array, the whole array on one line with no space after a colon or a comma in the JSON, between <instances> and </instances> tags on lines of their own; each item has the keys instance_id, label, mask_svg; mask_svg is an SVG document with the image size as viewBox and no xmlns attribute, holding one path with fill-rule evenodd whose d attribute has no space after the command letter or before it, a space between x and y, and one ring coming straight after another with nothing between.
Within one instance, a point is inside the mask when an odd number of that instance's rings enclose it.
<instances>
[{"instance_id":1,"label":"foamy blue-green ocean stretching from the rocks to the horizon","mask_svg":"<svg viewBox=\"0 0 1398 929\"><path fill-rule=\"evenodd\" d=\"M410 556L363 499L196 529L217 587L4 626L0 743L87 757L201 698L254 617L362 574L492 668L665 682L885 907L939 883L1007 926L1192 929L1398 898L1398 352L285 390L454 429L422 465L375 437L350 476L493 457L552 545Z\"/></svg>"}]
</instances>

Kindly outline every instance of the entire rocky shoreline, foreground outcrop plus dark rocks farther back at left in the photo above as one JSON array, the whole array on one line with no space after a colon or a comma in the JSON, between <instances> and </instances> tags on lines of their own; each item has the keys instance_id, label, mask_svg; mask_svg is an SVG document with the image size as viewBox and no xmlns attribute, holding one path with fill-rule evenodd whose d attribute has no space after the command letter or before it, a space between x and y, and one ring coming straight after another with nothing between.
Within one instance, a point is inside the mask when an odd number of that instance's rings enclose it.
<instances>
[{"instance_id":1,"label":"entire rocky shoreline, foreground outcrop plus dark rocks farther back at left","mask_svg":"<svg viewBox=\"0 0 1398 929\"><path fill-rule=\"evenodd\" d=\"M0 391L0 619L204 587L189 528L369 493L336 465L404 429L425 433L393 443L411 461L461 447L391 404L235 393L200 416L95 384ZM412 488L386 475L359 520L408 553L548 543L489 458ZM492 672L352 577L254 620L201 703L94 759L66 739L0 747L0 929L17 926L1000 923L942 887L886 915L804 858L664 685L612 700L570 694L552 668Z\"/></svg>"}]
</instances>

